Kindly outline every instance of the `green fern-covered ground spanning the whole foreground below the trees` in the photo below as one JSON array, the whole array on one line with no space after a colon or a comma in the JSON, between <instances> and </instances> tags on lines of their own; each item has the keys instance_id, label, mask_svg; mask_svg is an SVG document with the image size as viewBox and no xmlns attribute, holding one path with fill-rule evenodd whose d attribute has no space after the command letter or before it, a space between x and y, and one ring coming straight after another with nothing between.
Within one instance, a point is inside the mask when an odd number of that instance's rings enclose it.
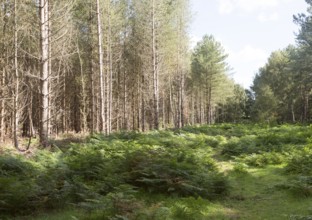
<instances>
[{"instance_id":1,"label":"green fern-covered ground spanning the whole foreground below the trees","mask_svg":"<svg viewBox=\"0 0 312 220\"><path fill-rule=\"evenodd\" d=\"M312 127L223 124L6 150L0 219L312 219Z\"/></svg>"}]
</instances>

